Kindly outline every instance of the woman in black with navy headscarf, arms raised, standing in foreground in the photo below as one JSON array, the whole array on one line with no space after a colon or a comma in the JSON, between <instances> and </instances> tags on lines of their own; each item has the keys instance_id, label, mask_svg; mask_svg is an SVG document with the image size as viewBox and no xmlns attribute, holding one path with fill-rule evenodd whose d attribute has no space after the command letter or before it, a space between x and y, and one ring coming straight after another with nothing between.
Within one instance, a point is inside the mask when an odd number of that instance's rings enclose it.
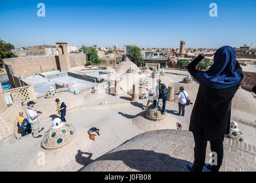
<instances>
[{"instance_id":1,"label":"woman in black with navy headscarf, arms raised, standing in foreground","mask_svg":"<svg viewBox=\"0 0 256 183\"><path fill-rule=\"evenodd\" d=\"M214 63L207 71L195 69L205 56L214 55ZM230 132L231 101L243 80L242 68L236 61L235 50L220 47L215 53L201 53L188 65L189 73L200 83L195 106L191 113L189 131L195 140L195 161L190 171L218 172L223 160L223 141ZM207 141L215 156L212 164L205 163ZM217 156L216 156L217 155Z\"/></svg>"}]
</instances>

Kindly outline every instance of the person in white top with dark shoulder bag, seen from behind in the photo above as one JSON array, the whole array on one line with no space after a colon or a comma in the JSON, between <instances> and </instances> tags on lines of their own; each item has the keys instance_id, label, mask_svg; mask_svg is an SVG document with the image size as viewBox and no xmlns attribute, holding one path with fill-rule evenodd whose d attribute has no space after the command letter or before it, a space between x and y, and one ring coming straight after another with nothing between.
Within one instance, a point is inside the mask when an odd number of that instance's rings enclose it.
<instances>
[{"instance_id":1,"label":"person in white top with dark shoulder bag, seen from behind","mask_svg":"<svg viewBox=\"0 0 256 183\"><path fill-rule=\"evenodd\" d=\"M183 116L185 117L185 106L189 105L189 98L188 98L188 92L185 91L185 88L183 86L180 87L180 93L179 96L174 98L173 101L176 101L179 99L179 113L177 113L177 116Z\"/></svg>"}]
</instances>

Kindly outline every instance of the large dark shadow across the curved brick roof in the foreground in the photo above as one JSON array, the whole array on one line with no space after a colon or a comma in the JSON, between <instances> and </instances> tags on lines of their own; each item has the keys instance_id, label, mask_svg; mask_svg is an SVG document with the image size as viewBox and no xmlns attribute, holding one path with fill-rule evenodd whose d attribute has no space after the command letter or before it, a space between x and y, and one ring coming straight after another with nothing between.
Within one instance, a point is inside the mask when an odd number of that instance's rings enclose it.
<instances>
[{"instance_id":1,"label":"large dark shadow across the curved brick roof in the foreground","mask_svg":"<svg viewBox=\"0 0 256 183\"><path fill-rule=\"evenodd\" d=\"M142 149L129 149L129 150L120 150L118 152L104 154L100 156L94 162L97 161L122 161L123 164L128 166L131 169L135 169L141 172L188 172L187 164L188 161L181 160L179 158L174 158L164 153L156 153L153 150L142 150ZM94 164L92 162L92 166ZM119 166L122 166L119 164ZM111 163L111 162L110 162ZM117 163L118 164L118 163ZM84 165L79 172L90 171L90 168L87 167L88 164ZM96 171L102 171L100 165L95 166ZM113 168L114 169L114 168ZM110 169L111 171L111 169Z\"/></svg>"}]
</instances>

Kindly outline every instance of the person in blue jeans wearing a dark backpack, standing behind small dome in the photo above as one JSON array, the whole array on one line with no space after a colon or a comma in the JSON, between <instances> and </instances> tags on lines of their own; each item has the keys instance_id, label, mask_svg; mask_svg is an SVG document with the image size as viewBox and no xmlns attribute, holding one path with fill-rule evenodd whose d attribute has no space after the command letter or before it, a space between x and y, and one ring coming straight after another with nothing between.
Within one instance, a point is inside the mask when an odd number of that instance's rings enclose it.
<instances>
[{"instance_id":1,"label":"person in blue jeans wearing a dark backpack, standing behind small dome","mask_svg":"<svg viewBox=\"0 0 256 183\"><path fill-rule=\"evenodd\" d=\"M162 114L165 114L166 113L165 106L166 106L167 95L169 90L164 83L161 83L161 79L157 79L157 83L158 85L156 87L156 94L158 94L158 100L162 98ZM156 106L157 106L157 101L154 100L153 108L156 108Z\"/></svg>"}]
</instances>

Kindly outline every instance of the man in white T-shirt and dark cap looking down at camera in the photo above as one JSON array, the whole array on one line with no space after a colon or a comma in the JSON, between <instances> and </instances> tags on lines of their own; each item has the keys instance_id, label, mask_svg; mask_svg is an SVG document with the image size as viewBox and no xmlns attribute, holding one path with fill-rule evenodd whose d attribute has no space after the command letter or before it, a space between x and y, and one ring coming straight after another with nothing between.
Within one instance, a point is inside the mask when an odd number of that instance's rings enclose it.
<instances>
[{"instance_id":1,"label":"man in white T-shirt and dark cap looking down at camera","mask_svg":"<svg viewBox=\"0 0 256 183\"><path fill-rule=\"evenodd\" d=\"M33 109L34 104L36 102L29 101L28 102L28 108L26 109L26 115L28 116L29 123L31 124L32 128L32 134L34 138L39 138L42 137L41 135L38 135L44 128L40 129L40 122L38 121L38 117L42 114L42 112L37 112L36 110Z\"/></svg>"}]
</instances>

